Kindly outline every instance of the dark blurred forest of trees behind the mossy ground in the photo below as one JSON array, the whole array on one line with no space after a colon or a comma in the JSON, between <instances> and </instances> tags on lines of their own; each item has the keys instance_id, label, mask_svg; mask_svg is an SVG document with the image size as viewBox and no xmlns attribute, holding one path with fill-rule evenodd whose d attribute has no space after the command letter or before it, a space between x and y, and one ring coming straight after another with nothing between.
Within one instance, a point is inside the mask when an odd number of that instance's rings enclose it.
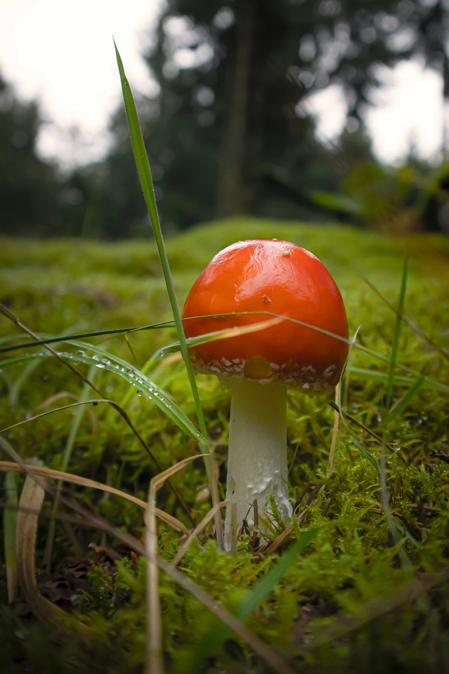
<instances>
[{"instance_id":1,"label":"dark blurred forest of trees behind the mossy ground","mask_svg":"<svg viewBox=\"0 0 449 674\"><path fill-rule=\"evenodd\" d=\"M145 54L160 91L138 100L165 233L236 214L447 232L445 134L431 164L411 144L385 166L364 119L382 64L419 57L448 97L448 22L444 0L167 2ZM304 102L330 84L348 117L321 144ZM0 80L0 233L146 237L123 107L104 160L69 174L36 154L42 123Z\"/></svg>"}]
</instances>

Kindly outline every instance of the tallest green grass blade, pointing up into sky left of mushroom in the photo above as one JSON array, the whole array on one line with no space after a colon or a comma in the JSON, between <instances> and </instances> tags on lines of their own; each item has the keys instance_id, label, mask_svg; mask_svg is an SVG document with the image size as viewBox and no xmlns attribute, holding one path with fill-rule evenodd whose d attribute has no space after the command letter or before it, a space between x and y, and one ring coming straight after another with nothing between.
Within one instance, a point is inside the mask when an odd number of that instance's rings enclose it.
<instances>
[{"instance_id":1,"label":"tallest green grass blade, pointing up into sky left of mushroom","mask_svg":"<svg viewBox=\"0 0 449 674\"><path fill-rule=\"evenodd\" d=\"M178 302L176 301L176 295L174 293L172 274L170 273L170 265L168 264L167 252L164 246L164 239L162 237L162 231L160 228L160 222L158 217L158 208L156 207L156 199L154 197L153 181L151 179L151 171L149 168L147 151L145 150L145 144L143 142L142 132L139 125L139 118L137 117L137 110L135 108L133 94L131 93L131 88L126 78L125 70L123 69L122 59L120 58L120 54L118 53L118 49L116 47L115 42L114 48L116 53L118 71L120 73L120 82L122 84L123 100L125 102L125 111L127 113L129 133L131 135L131 144L133 146L133 153L137 166L137 173L139 174L143 196L145 197L145 203L147 204L151 225L153 226L153 233L156 239L156 245L158 247L158 253L162 264L162 271L164 272L164 279L166 282L168 297L170 299L170 305L172 307L174 322L176 324L176 332L178 332L178 339L181 345L182 359L184 360L188 381L191 385L193 400L195 401L195 410L197 412L197 419L201 431L201 436L203 437L203 446L204 446L205 443L207 443L208 445L208 442L207 442L206 424L203 415L203 408L201 407L201 402L199 399L197 382L195 381L192 363L190 358L188 357L186 336L184 334L184 328L182 327L182 319L178 307ZM219 501L218 489L217 484L214 483L213 479L212 456L210 455L210 450L208 451L209 456L205 456L205 466L211 487L212 502L213 505L217 505ZM219 547L223 547L221 516L219 512L217 512L217 518L215 519L215 531L217 535L217 543Z\"/></svg>"}]
</instances>

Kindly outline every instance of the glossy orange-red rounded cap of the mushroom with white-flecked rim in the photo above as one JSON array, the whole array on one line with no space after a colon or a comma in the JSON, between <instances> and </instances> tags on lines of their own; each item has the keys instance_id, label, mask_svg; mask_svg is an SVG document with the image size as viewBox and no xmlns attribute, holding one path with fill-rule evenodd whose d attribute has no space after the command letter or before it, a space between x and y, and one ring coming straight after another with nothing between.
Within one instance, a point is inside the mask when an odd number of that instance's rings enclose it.
<instances>
[{"instance_id":1,"label":"glossy orange-red rounded cap of the mushroom with white-flecked rim","mask_svg":"<svg viewBox=\"0 0 449 674\"><path fill-rule=\"evenodd\" d=\"M287 241L239 241L219 252L200 274L182 317L269 311L348 338L341 293L317 257ZM186 337L269 319L254 314L184 321ZM198 372L222 373L325 392L340 378L348 344L293 323L191 348Z\"/></svg>"}]
</instances>

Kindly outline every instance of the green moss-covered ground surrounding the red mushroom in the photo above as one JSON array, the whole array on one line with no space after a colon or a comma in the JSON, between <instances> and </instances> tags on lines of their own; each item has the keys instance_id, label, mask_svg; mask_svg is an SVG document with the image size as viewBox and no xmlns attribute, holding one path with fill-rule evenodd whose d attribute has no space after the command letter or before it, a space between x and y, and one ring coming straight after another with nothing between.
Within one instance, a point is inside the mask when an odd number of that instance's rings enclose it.
<instances>
[{"instance_id":1,"label":"green moss-covered ground surrounding the red mushroom","mask_svg":"<svg viewBox=\"0 0 449 674\"><path fill-rule=\"evenodd\" d=\"M396 315L361 280L356 268L396 306L404 259L409 257L405 313L430 340L447 350L449 239L437 235L389 239L350 227L265 220L235 219L199 226L166 241L179 303L221 248L240 239L272 237L302 245L321 259L341 289L351 334L361 326L357 342L384 357L353 348L342 398L351 417L382 435ZM171 317L151 241L2 239L0 261L0 301L35 332L76 334L145 326ZM3 316L0 330L3 336L19 333ZM131 334L135 361L123 336L91 341L101 342L110 353L142 367L157 348L175 340L174 329ZM404 322L398 363L426 379L386 431L386 488L392 525L388 526L382 508L378 472L352 438L380 461L378 441L353 421L347 420L348 428L340 422L335 470L328 475L334 425L334 410L328 404L331 398L306 398L292 391L287 414L289 489L297 499L295 514L306 510L300 522L293 520L293 536L273 555L256 556L250 536L244 535L238 555L232 557L217 550L211 522L208 537L194 541L180 563L184 574L238 613L246 592L275 568L295 537L319 527L316 537L247 620L248 627L272 644L293 671L449 672L449 363L444 353ZM77 367L88 371L83 365ZM401 369L396 376L410 383L417 379ZM182 361L176 357L158 361L149 377L196 421ZM223 498L230 398L215 377L197 380L211 447L219 463ZM95 381L115 402L123 400L129 389L123 379L105 370L96 371ZM393 404L407 394L409 382L396 380ZM5 428L44 409L73 402L82 383L55 359L42 358L3 369L0 386L0 426ZM66 397L53 399L57 394ZM133 394L126 409L162 468L197 452L193 439L144 396ZM91 405L80 416L69 472L146 500L149 479L157 470L123 419L102 405ZM38 458L49 468L61 469L73 419L71 409L55 412L11 429L4 437L22 458ZM1 458L9 460L6 454ZM22 483L20 478L19 486ZM176 474L173 483L199 522L211 507L201 460ZM143 514L138 505L67 483L63 493L114 526L141 537ZM51 508L53 503L46 498L44 509ZM166 486L158 493L158 508L190 526ZM88 623L93 636L86 644L73 627L69 644L54 643L52 634L32 618L23 601L7 606L3 567L1 671L143 671L144 559L125 555L122 561L114 561L101 548L118 549L118 541L105 537L101 530L57 521L47 574L43 558L48 522L43 516L39 520L38 582L44 584L41 589L46 596ZM277 522L273 537L287 524ZM159 534L159 553L170 560L180 534L164 524ZM94 552L90 543L100 550ZM164 573L160 574L160 597L167 672L269 671L244 640Z\"/></svg>"}]
</instances>

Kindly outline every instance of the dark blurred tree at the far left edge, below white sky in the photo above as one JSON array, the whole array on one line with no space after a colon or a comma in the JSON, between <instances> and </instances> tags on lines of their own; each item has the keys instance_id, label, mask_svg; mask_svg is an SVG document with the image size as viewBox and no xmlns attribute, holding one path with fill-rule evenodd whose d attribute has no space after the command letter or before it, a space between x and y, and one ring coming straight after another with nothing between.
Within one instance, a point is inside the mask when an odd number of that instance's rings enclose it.
<instances>
[{"instance_id":1,"label":"dark blurred tree at the far left edge, below white sky","mask_svg":"<svg viewBox=\"0 0 449 674\"><path fill-rule=\"evenodd\" d=\"M0 76L0 233L48 235L64 231L63 185L55 168L34 152L42 120L35 102L20 102ZM72 232L74 233L74 232Z\"/></svg>"}]
</instances>

